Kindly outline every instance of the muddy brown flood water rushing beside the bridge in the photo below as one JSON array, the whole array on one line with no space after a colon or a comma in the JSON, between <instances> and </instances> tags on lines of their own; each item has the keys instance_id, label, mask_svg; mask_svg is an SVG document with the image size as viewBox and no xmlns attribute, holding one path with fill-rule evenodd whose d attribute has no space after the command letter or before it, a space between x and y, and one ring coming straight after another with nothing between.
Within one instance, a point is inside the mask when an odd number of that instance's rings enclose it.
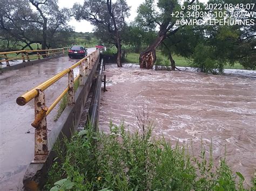
<instances>
[{"instance_id":1,"label":"muddy brown flood water rushing beside the bridge","mask_svg":"<svg viewBox=\"0 0 256 191\"><path fill-rule=\"evenodd\" d=\"M154 136L181 144L193 143L199 155L201 140L213 146L216 165L225 155L233 172L250 184L256 169L256 75L209 75L196 72L118 68L107 65L107 91L102 93L99 128L109 122L137 129L138 111L149 113Z\"/></svg>"}]
</instances>

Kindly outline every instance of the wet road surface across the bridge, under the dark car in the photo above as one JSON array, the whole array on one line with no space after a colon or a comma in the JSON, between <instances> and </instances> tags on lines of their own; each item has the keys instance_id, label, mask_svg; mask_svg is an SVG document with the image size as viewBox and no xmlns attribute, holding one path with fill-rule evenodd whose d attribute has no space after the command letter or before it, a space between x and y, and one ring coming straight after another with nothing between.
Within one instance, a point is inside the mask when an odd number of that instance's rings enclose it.
<instances>
[{"instance_id":1,"label":"wet road surface across the bridge, under the dark car","mask_svg":"<svg viewBox=\"0 0 256 191\"><path fill-rule=\"evenodd\" d=\"M93 51L95 48L88 48L87 52ZM16 98L77 61L79 59L63 56L0 75L0 190L21 190L26 167L33 159L34 102L19 106ZM46 89L46 106L49 107L67 85L68 76L64 76ZM55 125L56 111L57 108L53 109L47 117L49 130Z\"/></svg>"}]
</instances>

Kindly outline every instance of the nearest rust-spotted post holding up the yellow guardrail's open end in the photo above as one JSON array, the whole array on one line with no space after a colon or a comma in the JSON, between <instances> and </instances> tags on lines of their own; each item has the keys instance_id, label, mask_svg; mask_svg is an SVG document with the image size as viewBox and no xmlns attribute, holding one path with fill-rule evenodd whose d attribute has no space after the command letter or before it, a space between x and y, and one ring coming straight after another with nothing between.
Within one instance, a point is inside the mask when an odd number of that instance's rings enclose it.
<instances>
[{"instance_id":1,"label":"nearest rust-spotted post holding up the yellow guardrail's open end","mask_svg":"<svg viewBox=\"0 0 256 191\"><path fill-rule=\"evenodd\" d=\"M38 95L35 97L35 119L41 110L45 108L45 96L43 91L37 89ZM35 130L35 157L32 162L45 162L48 155L48 140L47 140L47 123L46 116L42 118Z\"/></svg>"}]
</instances>

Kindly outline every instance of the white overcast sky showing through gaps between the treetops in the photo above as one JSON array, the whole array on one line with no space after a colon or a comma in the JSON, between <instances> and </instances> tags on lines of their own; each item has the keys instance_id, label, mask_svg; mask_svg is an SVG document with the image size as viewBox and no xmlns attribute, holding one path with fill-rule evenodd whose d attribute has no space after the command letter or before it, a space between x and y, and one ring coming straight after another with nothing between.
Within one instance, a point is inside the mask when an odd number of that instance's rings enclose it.
<instances>
[{"instance_id":1,"label":"white overcast sky showing through gaps between the treetops","mask_svg":"<svg viewBox=\"0 0 256 191\"><path fill-rule=\"evenodd\" d=\"M127 4L131 6L130 14L131 16L127 19L128 22L134 20L134 18L137 16L137 9L140 4L142 4L145 0L127 0ZM207 0L199 0L199 2L206 2ZM72 8L73 4L80 3L83 4L84 0L73 0L73 1L67 1L67 0L59 0L59 7L60 8ZM74 27L76 32L92 32L93 26L85 21L82 20L81 22L77 22L75 18L72 18L69 22L71 26Z\"/></svg>"}]
</instances>

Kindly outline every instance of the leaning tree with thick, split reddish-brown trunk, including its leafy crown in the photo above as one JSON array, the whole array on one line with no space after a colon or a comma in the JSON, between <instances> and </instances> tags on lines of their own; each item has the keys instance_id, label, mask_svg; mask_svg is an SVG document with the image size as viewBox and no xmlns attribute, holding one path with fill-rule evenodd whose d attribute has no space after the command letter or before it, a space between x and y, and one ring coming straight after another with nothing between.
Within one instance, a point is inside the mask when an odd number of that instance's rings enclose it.
<instances>
[{"instance_id":1,"label":"leaning tree with thick, split reddish-brown trunk, including its leafy crown","mask_svg":"<svg viewBox=\"0 0 256 191\"><path fill-rule=\"evenodd\" d=\"M185 1L183 10L187 11L187 6L195 2ZM198 2L197 2L198 3ZM178 0L159 0L156 5L153 0L146 0L139 6L137 23L143 29L150 31L159 27L157 38L152 41L149 47L145 49L139 56L141 68L150 69L156 62L156 48L166 39L167 36L172 36L184 26L176 25L176 17L173 12L181 11L181 5Z\"/></svg>"}]
</instances>

